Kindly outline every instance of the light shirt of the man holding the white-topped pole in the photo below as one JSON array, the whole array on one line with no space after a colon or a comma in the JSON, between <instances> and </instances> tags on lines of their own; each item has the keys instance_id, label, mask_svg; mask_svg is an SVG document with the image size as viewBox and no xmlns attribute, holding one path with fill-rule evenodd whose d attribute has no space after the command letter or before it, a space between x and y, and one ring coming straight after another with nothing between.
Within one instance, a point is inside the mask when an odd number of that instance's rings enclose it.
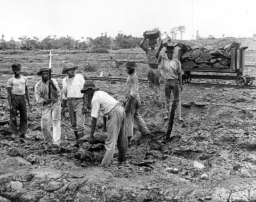
<instances>
[{"instance_id":1,"label":"light shirt of the man holding the white-topped pole","mask_svg":"<svg viewBox=\"0 0 256 202\"><path fill-rule=\"evenodd\" d=\"M52 82L56 86L57 91L54 91L51 88L51 102L57 102L60 100L60 88L58 86L58 82L55 79L52 79ZM48 99L48 92L49 92L49 81L43 82L38 81L35 84L35 98L38 104L43 104L44 100Z\"/></svg>"}]
</instances>

